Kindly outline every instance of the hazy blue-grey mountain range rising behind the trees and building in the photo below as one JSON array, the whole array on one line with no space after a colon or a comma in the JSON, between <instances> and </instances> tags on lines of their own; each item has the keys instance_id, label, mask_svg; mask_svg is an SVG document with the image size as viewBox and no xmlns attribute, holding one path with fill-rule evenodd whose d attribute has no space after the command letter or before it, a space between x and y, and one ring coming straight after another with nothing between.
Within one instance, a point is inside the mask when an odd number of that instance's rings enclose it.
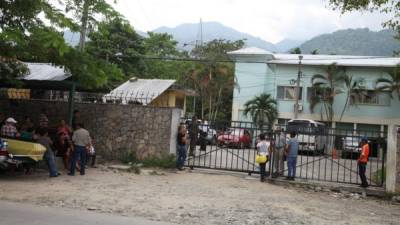
<instances>
[{"instance_id":1,"label":"hazy blue-grey mountain range rising behind the trees and building","mask_svg":"<svg viewBox=\"0 0 400 225\"><path fill-rule=\"evenodd\" d=\"M142 31L137 32L142 36L147 35ZM178 41L178 48L182 50L191 50L200 40L208 42L214 39L231 41L244 39L246 46L272 52L289 52L299 47L304 54L317 50L318 54L392 56L394 51L400 50L400 42L394 38L396 32L370 31L367 28L339 30L307 41L287 38L276 44L218 22L204 22L201 27L199 23L185 23L174 28L159 27L153 32L171 34ZM64 32L64 38L71 45L76 45L79 41L79 35L70 31Z\"/></svg>"}]
</instances>

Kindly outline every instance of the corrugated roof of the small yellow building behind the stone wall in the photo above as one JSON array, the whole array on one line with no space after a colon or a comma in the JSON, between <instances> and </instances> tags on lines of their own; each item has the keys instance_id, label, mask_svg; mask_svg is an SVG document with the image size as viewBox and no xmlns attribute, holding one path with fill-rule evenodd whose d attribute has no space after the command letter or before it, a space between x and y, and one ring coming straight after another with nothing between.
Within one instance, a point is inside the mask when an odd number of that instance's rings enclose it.
<instances>
[{"instance_id":1,"label":"corrugated roof of the small yellow building behind the stone wall","mask_svg":"<svg viewBox=\"0 0 400 225\"><path fill-rule=\"evenodd\" d=\"M146 105L165 92L174 83L175 80L132 78L104 97L106 99L120 98L122 100L132 98Z\"/></svg>"}]
</instances>

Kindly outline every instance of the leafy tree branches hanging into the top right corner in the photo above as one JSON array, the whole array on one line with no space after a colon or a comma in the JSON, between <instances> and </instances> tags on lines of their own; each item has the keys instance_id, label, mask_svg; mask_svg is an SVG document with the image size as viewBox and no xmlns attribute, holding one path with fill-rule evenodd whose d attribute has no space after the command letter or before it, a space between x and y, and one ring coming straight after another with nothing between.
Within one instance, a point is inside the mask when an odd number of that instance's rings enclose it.
<instances>
[{"instance_id":1,"label":"leafy tree branches hanging into the top right corner","mask_svg":"<svg viewBox=\"0 0 400 225\"><path fill-rule=\"evenodd\" d=\"M383 23L384 27L396 30L400 35L400 2L398 0L329 0L335 10L342 13L354 10L379 11L392 14L392 19Z\"/></svg>"}]
</instances>

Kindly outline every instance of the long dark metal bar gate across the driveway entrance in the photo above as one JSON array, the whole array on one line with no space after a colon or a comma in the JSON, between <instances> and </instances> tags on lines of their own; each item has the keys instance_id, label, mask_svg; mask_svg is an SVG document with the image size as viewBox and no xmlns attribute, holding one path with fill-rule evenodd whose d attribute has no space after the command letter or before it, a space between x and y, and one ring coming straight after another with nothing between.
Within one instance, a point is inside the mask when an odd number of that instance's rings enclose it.
<instances>
[{"instance_id":1,"label":"long dark metal bar gate across the driveway entrance","mask_svg":"<svg viewBox=\"0 0 400 225\"><path fill-rule=\"evenodd\" d=\"M274 126L277 127L277 126ZM280 126L283 132L278 134L268 128L258 128L250 122L230 122L229 124L199 124L198 129L191 129L191 146L188 146L186 166L259 173L255 162L256 145L260 134L265 134L272 146L266 174L287 176L284 170L276 171L278 159L275 143L277 135L289 139L294 131L299 142L296 178L337 183L360 184L357 159L361 148L358 146L361 136L367 136L370 145L370 157L366 176L371 186L383 186L385 176L386 134L367 130L346 130L326 128L323 130L296 129ZM275 177L275 176L273 176ZM279 176L278 176L279 177Z\"/></svg>"}]
</instances>

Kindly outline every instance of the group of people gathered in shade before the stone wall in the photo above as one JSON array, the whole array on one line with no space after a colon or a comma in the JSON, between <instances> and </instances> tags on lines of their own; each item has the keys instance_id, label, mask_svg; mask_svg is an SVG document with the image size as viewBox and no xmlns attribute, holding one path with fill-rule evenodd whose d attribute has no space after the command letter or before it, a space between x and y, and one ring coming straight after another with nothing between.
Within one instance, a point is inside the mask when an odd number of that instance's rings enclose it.
<instances>
[{"instance_id":1,"label":"group of people gathered in shade before the stone wall","mask_svg":"<svg viewBox=\"0 0 400 225\"><path fill-rule=\"evenodd\" d=\"M13 117L6 118L3 113L0 113L0 123L0 136L36 142L46 148L43 159L49 168L50 177L61 175L57 171L55 157L62 158L64 167L69 170L68 175L71 176L75 175L76 169L81 175L85 174L88 157L92 158L91 166L95 166L96 154L92 138L84 128L78 110L74 111L72 128L64 119L61 119L56 127L49 127L46 109L43 109L39 115L37 125L29 116L26 116L24 122L18 126L18 122ZM27 169L26 172L29 173L29 171Z\"/></svg>"}]
</instances>

